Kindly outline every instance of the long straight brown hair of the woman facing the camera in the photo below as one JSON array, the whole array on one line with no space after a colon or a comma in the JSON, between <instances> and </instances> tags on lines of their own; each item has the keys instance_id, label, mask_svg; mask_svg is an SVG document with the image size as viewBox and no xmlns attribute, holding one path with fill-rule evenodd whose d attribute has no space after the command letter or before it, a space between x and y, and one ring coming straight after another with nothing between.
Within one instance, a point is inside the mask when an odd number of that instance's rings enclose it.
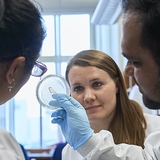
<instances>
[{"instance_id":1,"label":"long straight brown hair of the woman facing the camera","mask_svg":"<svg viewBox=\"0 0 160 160\"><path fill-rule=\"evenodd\" d=\"M123 75L115 61L98 50L84 50L76 54L68 63L66 80L72 66L94 66L106 71L118 84L115 115L110 123L109 131L116 144L128 143L144 147L145 129L147 127L141 106L128 98ZM104 93L105 94L105 93Z\"/></svg>"}]
</instances>

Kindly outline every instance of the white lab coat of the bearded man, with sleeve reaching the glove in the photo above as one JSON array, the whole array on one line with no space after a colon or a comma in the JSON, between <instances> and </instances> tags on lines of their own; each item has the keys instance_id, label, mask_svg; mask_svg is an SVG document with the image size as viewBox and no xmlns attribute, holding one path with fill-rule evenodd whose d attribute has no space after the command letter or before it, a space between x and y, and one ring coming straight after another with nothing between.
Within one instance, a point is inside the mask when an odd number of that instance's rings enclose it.
<instances>
[{"instance_id":1,"label":"white lab coat of the bearded man, with sleeve reaching the glove","mask_svg":"<svg viewBox=\"0 0 160 160\"><path fill-rule=\"evenodd\" d=\"M152 132L145 140L145 149L128 144L114 144L112 134L102 130L78 148L83 160L160 160L160 130Z\"/></svg>"}]
</instances>

